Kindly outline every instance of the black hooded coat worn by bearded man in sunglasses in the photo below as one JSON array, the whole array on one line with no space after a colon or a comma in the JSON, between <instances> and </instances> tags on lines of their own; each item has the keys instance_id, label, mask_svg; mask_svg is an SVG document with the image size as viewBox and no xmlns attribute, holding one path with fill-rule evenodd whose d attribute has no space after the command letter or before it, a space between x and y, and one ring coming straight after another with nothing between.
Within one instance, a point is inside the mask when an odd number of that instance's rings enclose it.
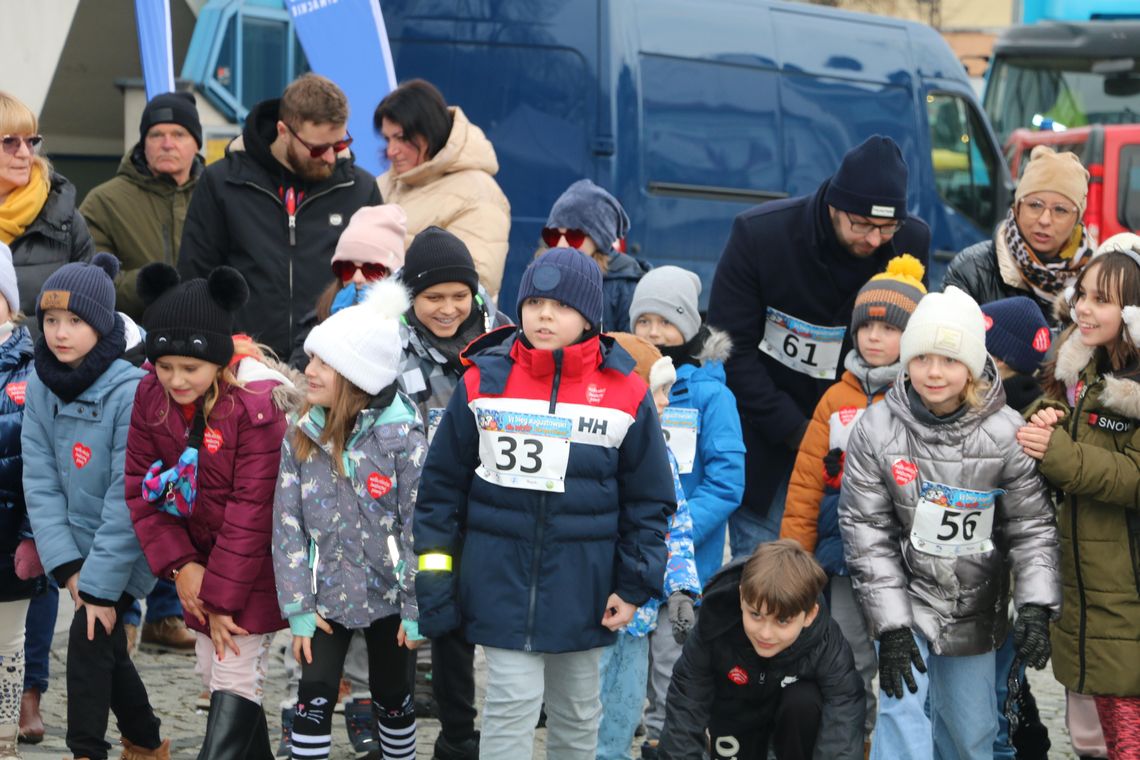
<instances>
[{"instance_id":1,"label":"black hooded coat worn by bearded man in sunglasses","mask_svg":"<svg viewBox=\"0 0 1140 760\"><path fill-rule=\"evenodd\" d=\"M186 213L178 271L206 277L228 264L245 277L250 301L235 329L288 357L295 334L333 279L336 240L361 206L381 203L376 179L351 158L340 157L327 179L307 182L269 152L277 134L279 100L254 106L239 140L226 157L206 166ZM283 196L299 202L291 227Z\"/></svg>"}]
</instances>

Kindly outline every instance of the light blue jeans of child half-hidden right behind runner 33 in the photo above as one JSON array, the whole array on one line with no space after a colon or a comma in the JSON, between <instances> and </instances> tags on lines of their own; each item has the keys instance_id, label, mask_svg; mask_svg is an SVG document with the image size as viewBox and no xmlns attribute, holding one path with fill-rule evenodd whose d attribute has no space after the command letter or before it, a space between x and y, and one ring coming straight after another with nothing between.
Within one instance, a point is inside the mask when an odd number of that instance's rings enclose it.
<instances>
[{"instance_id":1,"label":"light blue jeans of child half-hidden right behind runner 33","mask_svg":"<svg viewBox=\"0 0 1140 760\"><path fill-rule=\"evenodd\" d=\"M597 760L630 760L629 747L645 703L649 637L618 634L602 649L602 721L597 727Z\"/></svg>"}]
</instances>

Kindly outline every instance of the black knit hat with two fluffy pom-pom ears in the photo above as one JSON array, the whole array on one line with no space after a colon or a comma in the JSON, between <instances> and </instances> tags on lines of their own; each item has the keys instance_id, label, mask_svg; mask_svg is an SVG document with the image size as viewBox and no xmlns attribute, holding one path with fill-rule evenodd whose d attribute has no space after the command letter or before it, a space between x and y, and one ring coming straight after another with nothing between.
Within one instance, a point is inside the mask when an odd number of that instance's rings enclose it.
<instances>
[{"instance_id":1,"label":"black knit hat with two fluffy pom-pom ears","mask_svg":"<svg viewBox=\"0 0 1140 760\"><path fill-rule=\"evenodd\" d=\"M218 267L207 279L182 283L163 263L139 271L138 293L146 305L146 358L190 357L225 367L234 357L234 312L250 300L250 287L233 267Z\"/></svg>"}]
</instances>

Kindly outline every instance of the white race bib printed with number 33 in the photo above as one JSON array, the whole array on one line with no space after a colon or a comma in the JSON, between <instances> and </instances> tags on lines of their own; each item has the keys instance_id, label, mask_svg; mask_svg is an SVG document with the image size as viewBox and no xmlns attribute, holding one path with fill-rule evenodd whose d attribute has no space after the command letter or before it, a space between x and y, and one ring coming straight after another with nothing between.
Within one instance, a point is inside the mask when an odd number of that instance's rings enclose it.
<instances>
[{"instance_id":1,"label":"white race bib printed with number 33","mask_svg":"<svg viewBox=\"0 0 1140 760\"><path fill-rule=\"evenodd\" d=\"M573 420L554 415L479 408L475 474L505 488L565 491Z\"/></svg>"}]
</instances>

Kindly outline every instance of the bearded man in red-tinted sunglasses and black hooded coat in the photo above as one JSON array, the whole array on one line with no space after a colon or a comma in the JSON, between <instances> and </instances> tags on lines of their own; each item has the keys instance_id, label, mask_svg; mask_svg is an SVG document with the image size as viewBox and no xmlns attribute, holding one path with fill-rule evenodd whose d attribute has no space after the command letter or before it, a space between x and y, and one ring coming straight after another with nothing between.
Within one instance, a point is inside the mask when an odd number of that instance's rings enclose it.
<instances>
[{"instance_id":1,"label":"bearded man in red-tinted sunglasses and black hooded coat","mask_svg":"<svg viewBox=\"0 0 1140 760\"><path fill-rule=\"evenodd\" d=\"M234 327L287 357L302 317L332 278L328 262L349 219L381 203L375 178L349 152L348 98L317 74L259 103L190 201L178 271L237 269L250 300Z\"/></svg>"}]
</instances>

